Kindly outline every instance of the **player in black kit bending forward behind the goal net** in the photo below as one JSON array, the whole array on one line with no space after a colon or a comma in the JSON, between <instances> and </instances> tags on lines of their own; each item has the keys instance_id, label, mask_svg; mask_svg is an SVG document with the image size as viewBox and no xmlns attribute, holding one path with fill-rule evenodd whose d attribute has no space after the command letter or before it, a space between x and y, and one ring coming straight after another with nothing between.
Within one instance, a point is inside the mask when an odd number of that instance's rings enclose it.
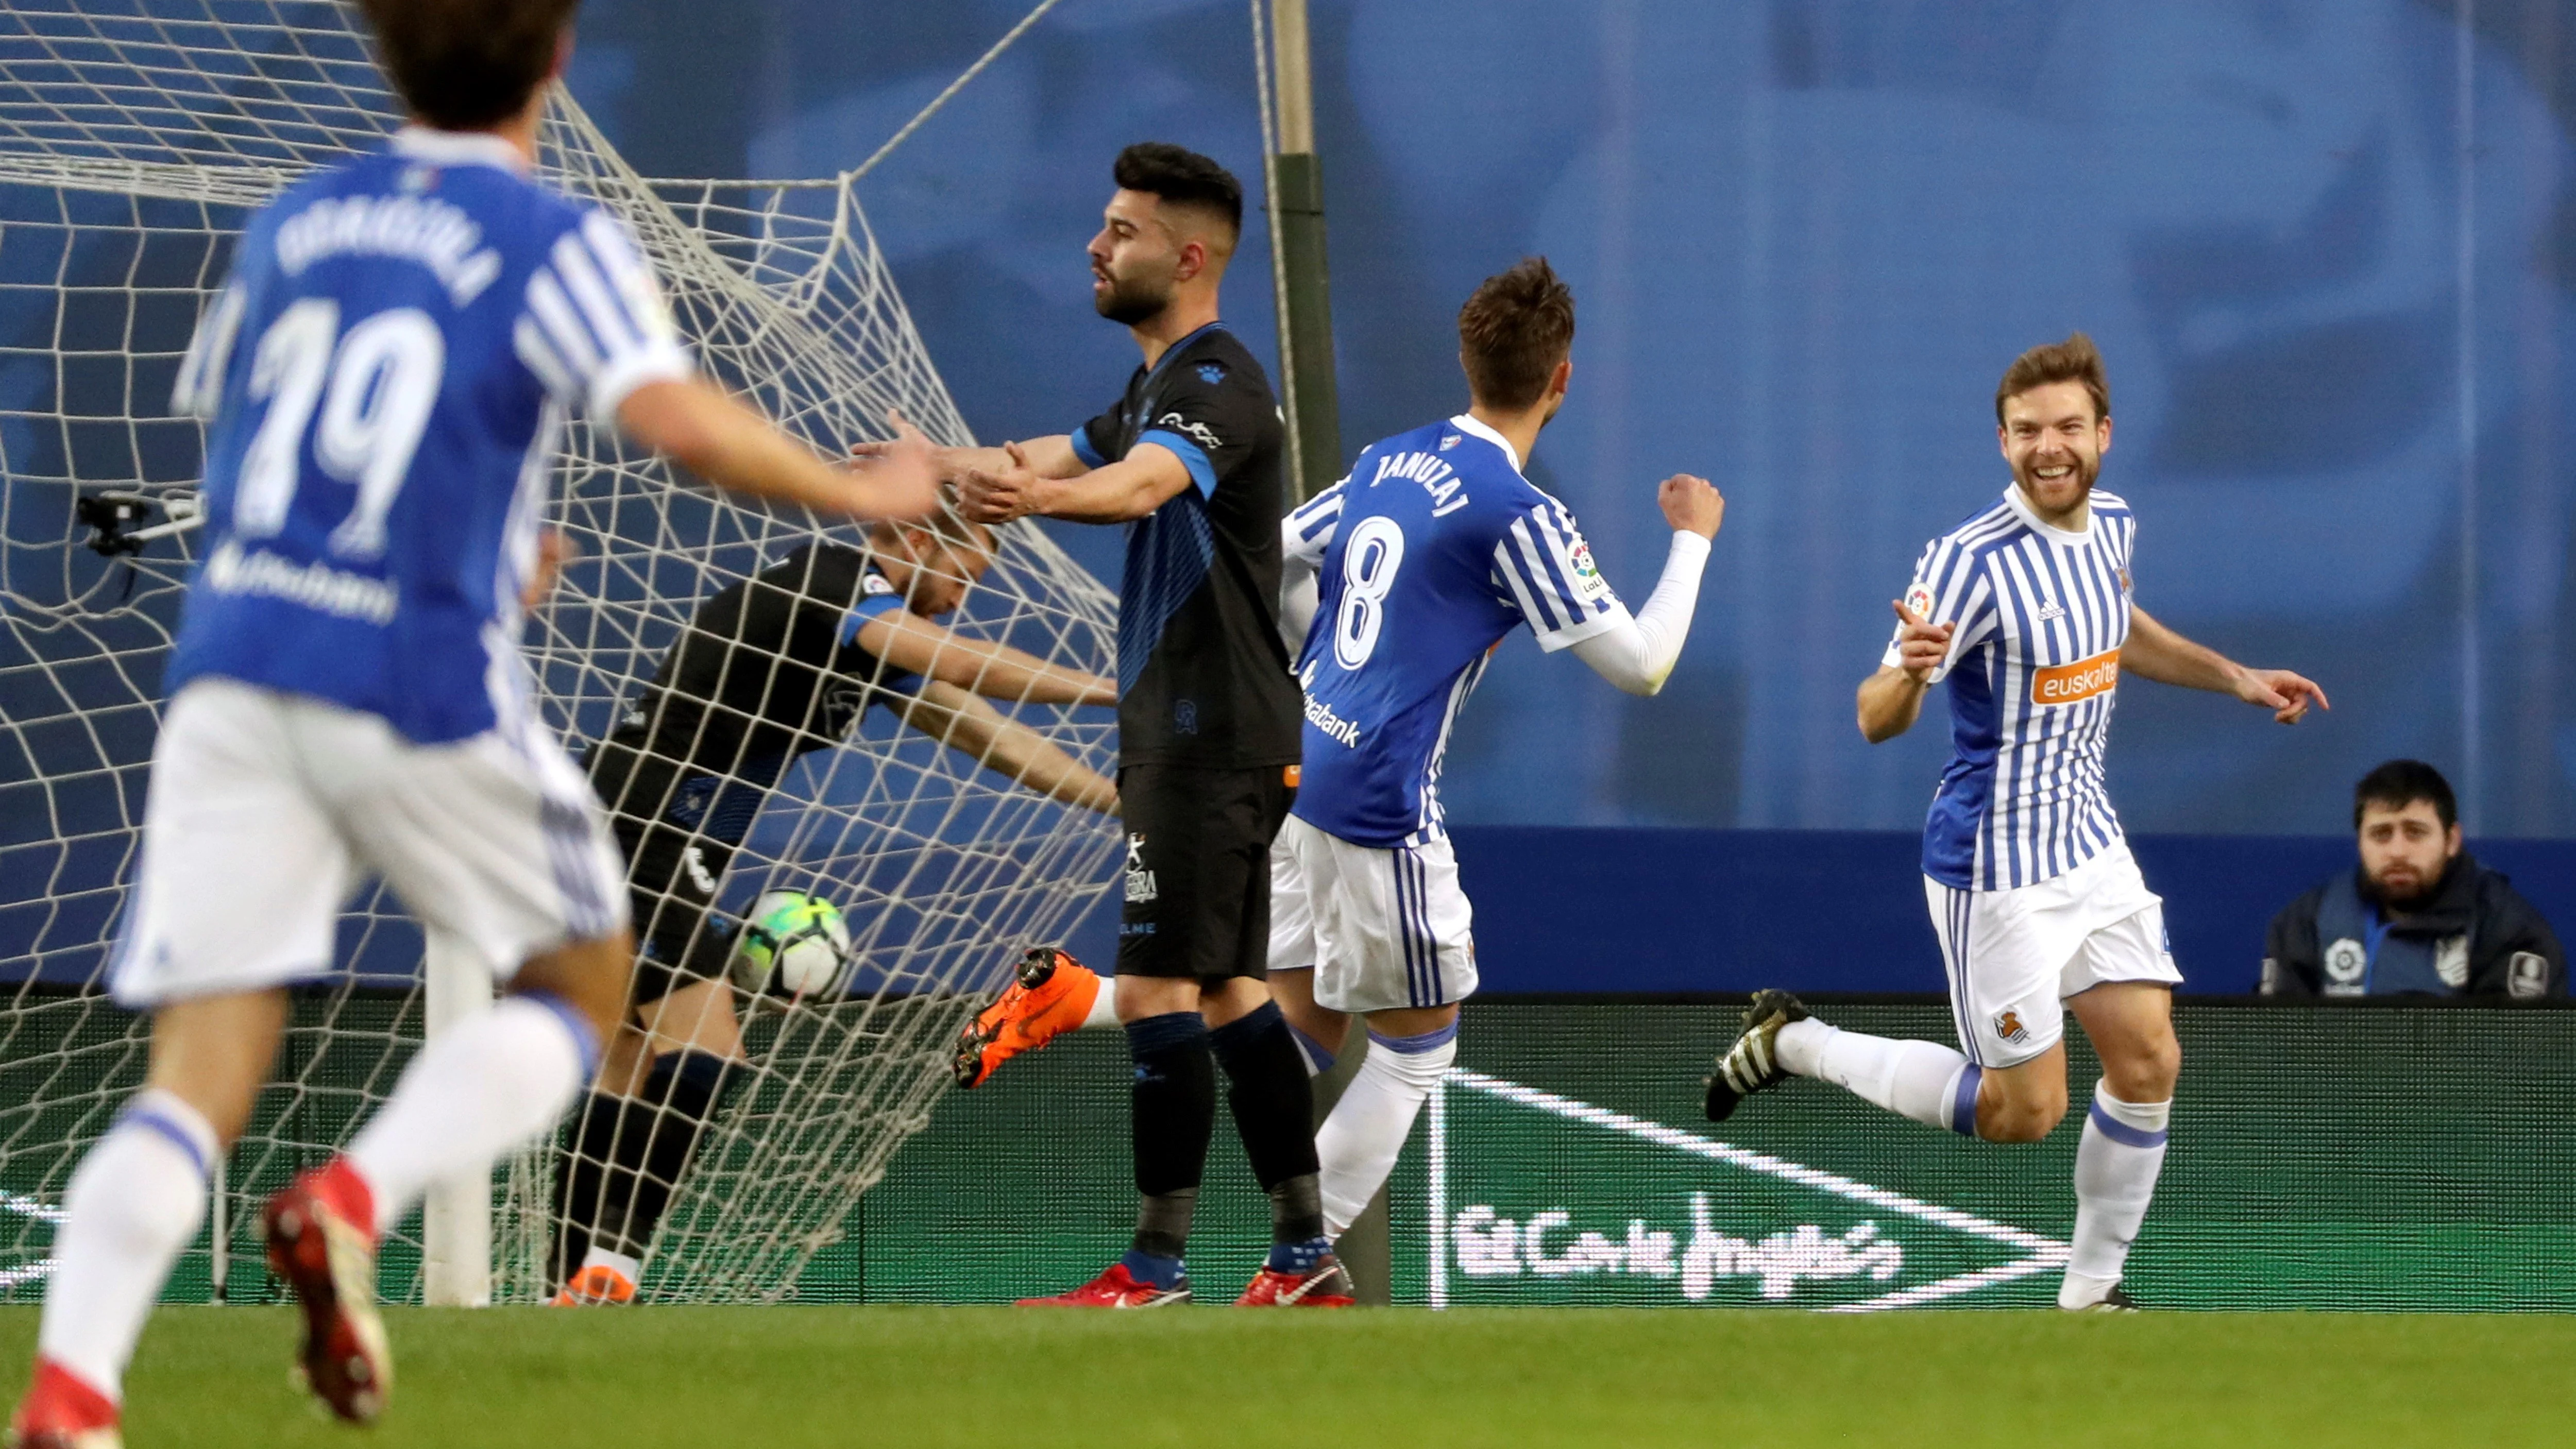
<instances>
[{"instance_id":1,"label":"player in black kit bending forward behind the goal net","mask_svg":"<svg viewBox=\"0 0 2576 1449\"><path fill-rule=\"evenodd\" d=\"M549 1274L559 1305L626 1302L672 1184L742 1073L714 914L724 870L788 764L837 746L868 705L1020 785L1092 811L1115 788L984 697L1115 705L1118 685L933 623L992 566L953 512L814 543L698 605L634 713L590 749L629 860L634 1006L572 1127ZM979 697L984 695L984 697Z\"/></svg>"}]
</instances>

